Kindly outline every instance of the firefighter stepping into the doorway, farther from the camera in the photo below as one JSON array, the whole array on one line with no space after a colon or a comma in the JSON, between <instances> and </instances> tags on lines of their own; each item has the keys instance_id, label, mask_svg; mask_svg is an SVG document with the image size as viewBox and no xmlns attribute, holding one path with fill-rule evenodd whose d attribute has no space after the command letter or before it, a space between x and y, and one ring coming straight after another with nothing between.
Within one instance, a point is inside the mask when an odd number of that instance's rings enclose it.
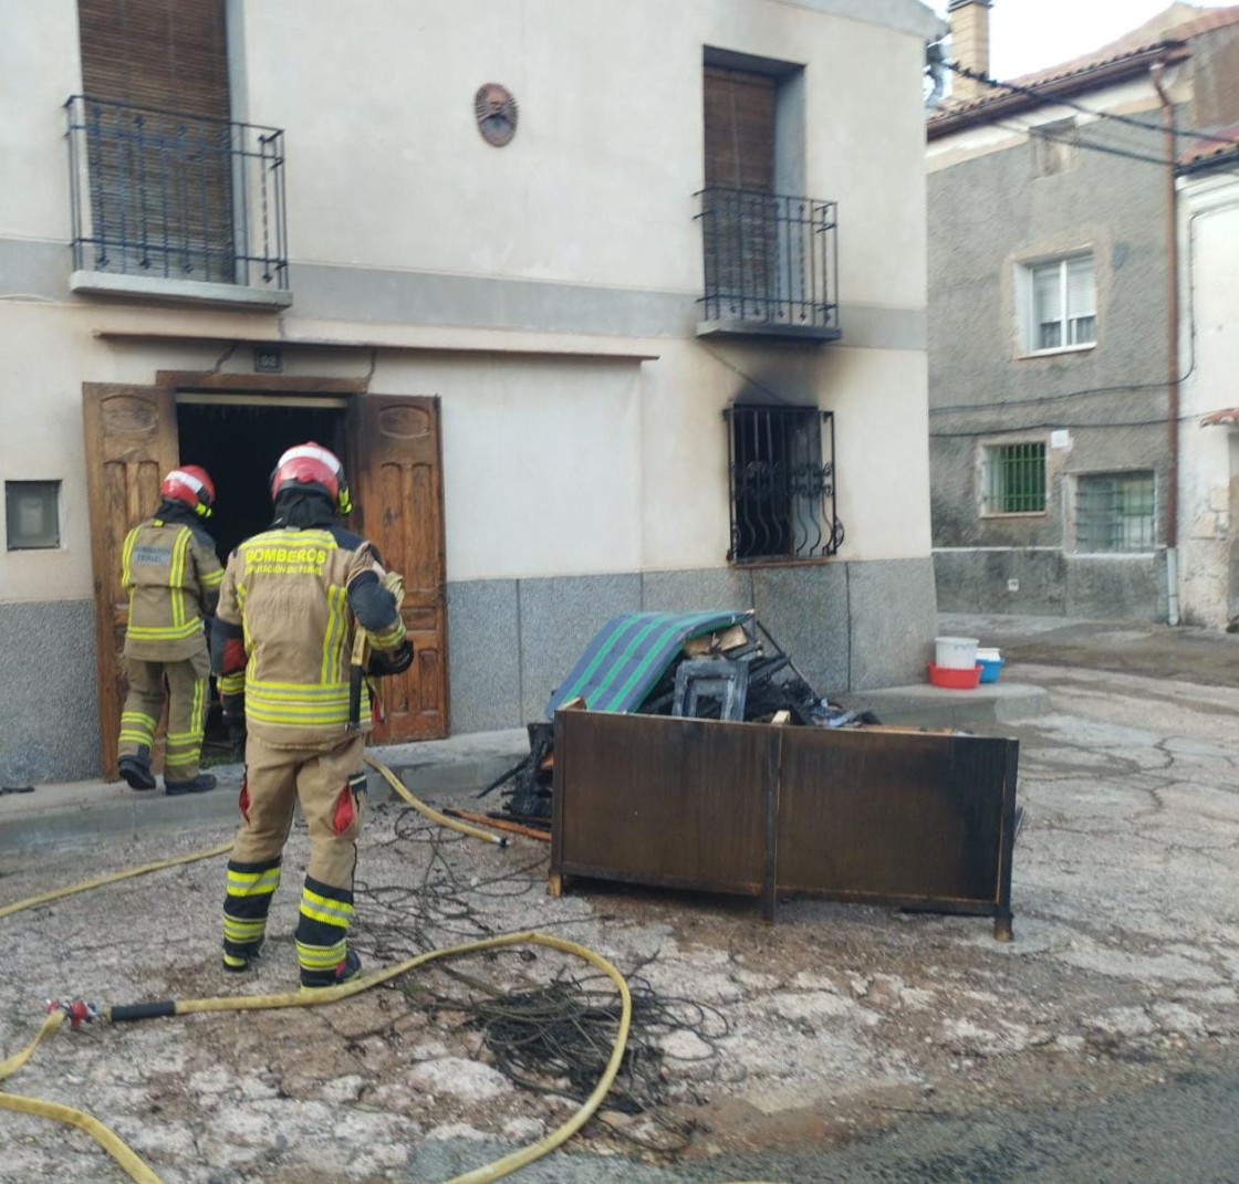
<instances>
[{"instance_id":1,"label":"firefighter stepping into the doorway, farther from the camera","mask_svg":"<svg viewBox=\"0 0 1239 1184\"><path fill-rule=\"evenodd\" d=\"M129 531L121 551L129 695L120 713L120 775L134 789L155 788L151 747L166 686L164 789L197 794L216 786L198 772L211 675L203 618L214 612L224 578L202 528L216 487L204 469L186 464L164 478L160 497L155 516Z\"/></svg>"}]
</instances>

